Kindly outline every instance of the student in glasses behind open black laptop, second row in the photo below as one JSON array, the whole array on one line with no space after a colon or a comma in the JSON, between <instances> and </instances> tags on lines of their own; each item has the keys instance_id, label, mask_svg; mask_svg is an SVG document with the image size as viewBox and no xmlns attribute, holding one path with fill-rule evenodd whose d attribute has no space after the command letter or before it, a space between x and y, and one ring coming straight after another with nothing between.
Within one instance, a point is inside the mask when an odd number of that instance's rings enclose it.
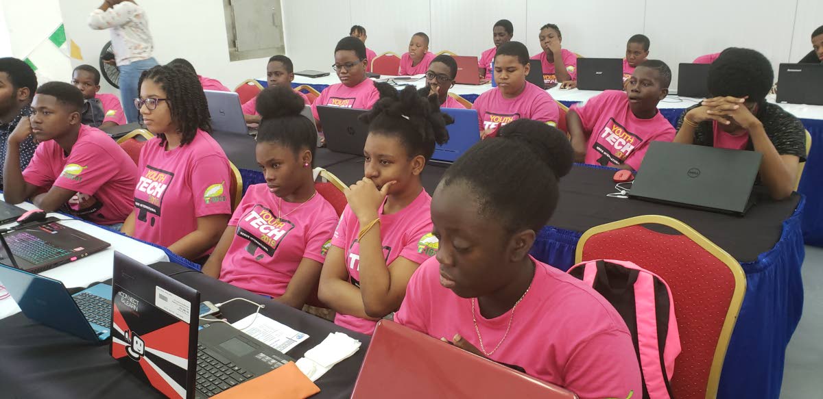
<instances>
[{"instance_id":1,"label":"student in glasses behind open black laptop, second row","mask_svg":"<svg viewBox=\"0 0 823 399\"><path fill-rule=\"evenodd\" d=\"M379 99L380 94L374 88L374 80L365 77L365 45L360 39L346 36L337 42L334 48L334 65L340 83L323 89L320 96L311 104L314 120L320 120L317 106L370 109ZM323 128L318 123L318 130Z\"/></svg>"}]
</instances>

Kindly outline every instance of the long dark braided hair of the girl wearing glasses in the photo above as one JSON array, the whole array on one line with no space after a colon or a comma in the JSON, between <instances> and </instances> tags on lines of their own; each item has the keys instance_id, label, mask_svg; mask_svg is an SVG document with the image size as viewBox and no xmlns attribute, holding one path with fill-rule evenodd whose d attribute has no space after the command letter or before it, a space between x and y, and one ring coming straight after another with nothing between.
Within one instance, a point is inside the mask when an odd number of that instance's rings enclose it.
<instances>
[{"instance_id":1,"label":"long dark braided hair of the girl wearing glasses","mask_svg":"<svg viewBox=\"0 0 823 399\"><path fill-rule=\"evenodd\" d=\"M189 144L197 135L198 129L212 132L212 117L208 112L206 94L200 85L198 76L185 66L158 65L148 71L143 71L137 87L143 85L144 80L151 80L165 91L168 99L171 120L177 125L183 135L180 145ZM156 133L160 138L160 146L165 146L165 134Z\"/></svg>"}]
</instances>

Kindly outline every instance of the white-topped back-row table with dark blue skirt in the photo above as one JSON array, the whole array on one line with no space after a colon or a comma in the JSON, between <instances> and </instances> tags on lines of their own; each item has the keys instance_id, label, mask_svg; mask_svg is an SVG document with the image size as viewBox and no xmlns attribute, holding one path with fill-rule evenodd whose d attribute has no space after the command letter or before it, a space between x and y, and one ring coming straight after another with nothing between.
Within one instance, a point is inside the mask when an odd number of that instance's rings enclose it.
<instances>
[{"instance_id":1,"label":"white-topped back-row table with dark blue skirt","mask_svg":"<svg viewBox=\"0 0 823 399\"><path fill-rule=\"evenodd\" d=\"M263 86L267 85L265 79L258 79L258 81ZM309 85L317 91L323 91L328 85L336 83L339 83L337 76L331 74L319 78L297 76L291 85L292 87ZM415 82L415 85L423 84L421 81ZM486 85L454 85L449 91L474 103L477 96L489 89L491 89L491 83ZM600 94L599 91L579 89L565 90L560 89L559 86L548 89L547 91L566 107L570 107L574 103L584 102ZM774 94L770 94L766 99L772 103L776 103ZM677 118L680 117L683 110L698 101L700 101L700 99L669 95L658 104L658 108L661 114L663 114L663 117L666 117L666 119L672 123L672 126L677 126ZM804 104L779 105L786 111L791 112L795 117L800 118L803 126L805 126L809 134L811 134L811 150L809 151L806 168L797 192L807 196L806 209L802 216L804 239L808 245L823 246L823 185L819 184L820 181L823 181L823 106Z\"/></svg>"}]
</instances>

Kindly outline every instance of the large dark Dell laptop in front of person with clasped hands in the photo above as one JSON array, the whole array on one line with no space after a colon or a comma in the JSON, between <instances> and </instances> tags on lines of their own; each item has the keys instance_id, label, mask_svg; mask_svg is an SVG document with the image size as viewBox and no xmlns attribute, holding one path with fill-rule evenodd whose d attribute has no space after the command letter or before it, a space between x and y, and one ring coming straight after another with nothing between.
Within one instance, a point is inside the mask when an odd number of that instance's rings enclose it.
<instances>
[{"instance_id":1,"label":"large dark Dell laptop in front of person with clasped hands","mask_svg":"<svg viewBox=\"0 0 823 399\"><path fill-rule=\"evenodd\" d=\"M629 196L742 216L754 201L756 151L652 141Z\"/></svg>"}]
</instances>

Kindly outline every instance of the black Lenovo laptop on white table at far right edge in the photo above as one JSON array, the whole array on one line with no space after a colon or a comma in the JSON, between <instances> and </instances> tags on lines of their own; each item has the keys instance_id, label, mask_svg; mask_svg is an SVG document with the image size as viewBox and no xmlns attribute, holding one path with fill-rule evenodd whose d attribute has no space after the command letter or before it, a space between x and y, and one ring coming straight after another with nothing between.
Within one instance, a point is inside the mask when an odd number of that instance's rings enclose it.
<instances>
[{"instance_id":1,"label":"black Lenovo laptop on white table at far right edge","mask_svg":"<svg viewBox=\"0 0 823 399\"><path fill-rule=\"evenodd\" d=\"M780 64L777 102L823 105L823 64Z\"/></svg>"}]
</instances>

